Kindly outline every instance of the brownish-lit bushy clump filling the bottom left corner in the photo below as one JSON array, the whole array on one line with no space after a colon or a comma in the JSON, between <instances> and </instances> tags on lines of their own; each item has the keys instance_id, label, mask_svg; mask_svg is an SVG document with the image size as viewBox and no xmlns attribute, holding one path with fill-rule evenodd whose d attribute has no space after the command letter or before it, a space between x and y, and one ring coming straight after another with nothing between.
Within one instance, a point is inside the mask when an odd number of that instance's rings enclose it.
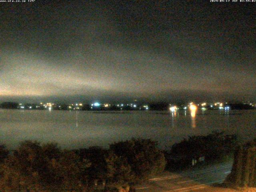
<instances>
[{"instance_id":1,"label":"brownish-lit bushy clump filling the bottom left corner","mask_svg":"<svg viewBox=\"0 0 256 192\"><path fill-rule=\"evenodd\" d=\"M75 189L85 167L74 152L62 151L56 144L25 141L2 165L0 191Z\"/></svg>"}]
</instances>

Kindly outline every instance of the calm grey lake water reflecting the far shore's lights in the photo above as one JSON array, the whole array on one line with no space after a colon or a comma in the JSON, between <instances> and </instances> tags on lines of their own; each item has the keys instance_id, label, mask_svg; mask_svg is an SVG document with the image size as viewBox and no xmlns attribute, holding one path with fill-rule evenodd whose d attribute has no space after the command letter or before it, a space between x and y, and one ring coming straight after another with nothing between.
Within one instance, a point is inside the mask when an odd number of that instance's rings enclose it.
<instances>
[{"instance_id":1,"label":"calm grey lake water reflecting the far shore's lights","mask_svg":"<svg viewBox=\"0 0 256 192\"><path fill-rule=\"evenodd\" d=\"M0 109L0 143L15 149L22 140L58 142L61 148L108 147L110 143L151 138L161 148L192 135L213 130L256 138L256 110L163 111L58 111Z\"/></svg>"}]
</instances>

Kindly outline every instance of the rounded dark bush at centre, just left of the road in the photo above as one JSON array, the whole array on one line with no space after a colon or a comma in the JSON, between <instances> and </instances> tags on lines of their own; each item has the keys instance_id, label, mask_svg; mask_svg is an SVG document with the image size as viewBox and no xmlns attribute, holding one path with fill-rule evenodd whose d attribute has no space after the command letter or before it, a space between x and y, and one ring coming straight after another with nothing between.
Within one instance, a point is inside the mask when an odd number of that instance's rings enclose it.
<instances>
[{"instance_id":1,"label":"rounded dark bush at centre, just left of the road","mask_svg":"<svg viewBox=\"0 0 256 192\"><path fill-rule=\"evenodd\" d=\"M165 168L164 154L157 142L150 139L132 139L110 145L110 150L130 165L134 182L146 180Z\"/></svg>"}]
</instances>

